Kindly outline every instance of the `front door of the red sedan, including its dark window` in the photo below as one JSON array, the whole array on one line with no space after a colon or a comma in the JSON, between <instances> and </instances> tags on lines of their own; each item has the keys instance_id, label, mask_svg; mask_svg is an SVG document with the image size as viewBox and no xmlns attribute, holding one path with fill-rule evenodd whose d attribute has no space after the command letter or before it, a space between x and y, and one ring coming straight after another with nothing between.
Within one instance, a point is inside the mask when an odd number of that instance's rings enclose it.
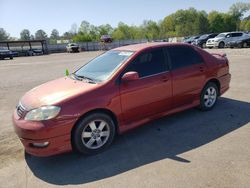
<instances>
[{"instance_id":1,"label":"front door of the red sedan, including its dark window","mask_svg":"<svg viewBox=\"0 0 250 188\"><path fill-rule=\"evenodd\" d=\"M140 120L171 108L171 75L163 48L139 54L123 74L130 71L138 72L139 79L120 84L125 122Z\"/></svg>"}]
</instances>

